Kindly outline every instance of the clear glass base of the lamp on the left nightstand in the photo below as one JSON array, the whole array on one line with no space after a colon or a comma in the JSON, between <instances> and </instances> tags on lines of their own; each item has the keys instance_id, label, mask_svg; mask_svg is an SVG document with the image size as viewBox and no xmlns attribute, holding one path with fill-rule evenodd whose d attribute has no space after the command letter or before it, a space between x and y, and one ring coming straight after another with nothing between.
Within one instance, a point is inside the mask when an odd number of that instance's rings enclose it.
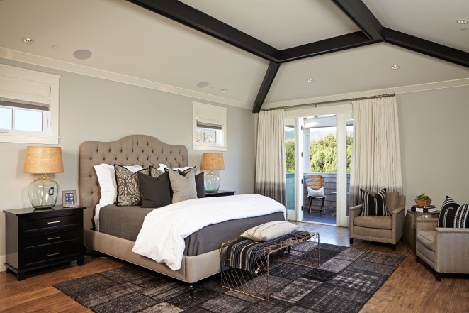
<instances>
[{"instance_id":1,"label":"clear glass base of the lamp on the left nightstand","mask_svg":"<svg viewBox=\"0 0 469 313\"><path fill-rule=\"evenodd\" d=\"M35 209L49 209L55 206L59 194L59 185L51 180L47 174L41 175L31 182L28 187L28 195Z\"/></svg>"}]
</instances>

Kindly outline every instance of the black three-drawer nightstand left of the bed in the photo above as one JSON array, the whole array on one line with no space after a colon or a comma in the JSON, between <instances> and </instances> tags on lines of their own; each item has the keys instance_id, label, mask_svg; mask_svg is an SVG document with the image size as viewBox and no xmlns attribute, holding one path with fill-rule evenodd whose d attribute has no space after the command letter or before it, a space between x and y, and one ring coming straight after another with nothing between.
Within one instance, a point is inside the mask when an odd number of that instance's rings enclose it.
<instances>
[{"instance_id":1,"label":"black three-drawer nightstand left of the bed","mask_svg":"<svg viewBox=\"0 0 469 313\"><path fill-rule=\"evenodd\" d=\"M84 264L84 207L5 210L6 271L26 272L77 260Z\"/></svg>"}]
</instances>

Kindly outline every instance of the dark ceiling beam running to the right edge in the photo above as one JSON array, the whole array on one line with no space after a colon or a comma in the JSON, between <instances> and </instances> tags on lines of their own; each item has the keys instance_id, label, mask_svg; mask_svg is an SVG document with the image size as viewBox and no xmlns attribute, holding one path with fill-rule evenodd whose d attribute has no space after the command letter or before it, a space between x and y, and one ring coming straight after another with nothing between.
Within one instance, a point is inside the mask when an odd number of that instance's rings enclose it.
<instances>
[{"instance_id":1,"label":"dark ceiling beam running to the right edge","mask_svg":"<svg viewBox=\"0 0 469 313\"><path fill-rule=\"evenodd\" d=\"M439 43L434 43L433 41L418 38L413 35L408 35L407 33L394 31L390 28L384 28L383 35L386 43L398 45L417 53L423 53L424 55L429 55L447 62L469 67L469 53L464 51L450 48L446 45L440 45Z\"/></svg>"}]
</instances>

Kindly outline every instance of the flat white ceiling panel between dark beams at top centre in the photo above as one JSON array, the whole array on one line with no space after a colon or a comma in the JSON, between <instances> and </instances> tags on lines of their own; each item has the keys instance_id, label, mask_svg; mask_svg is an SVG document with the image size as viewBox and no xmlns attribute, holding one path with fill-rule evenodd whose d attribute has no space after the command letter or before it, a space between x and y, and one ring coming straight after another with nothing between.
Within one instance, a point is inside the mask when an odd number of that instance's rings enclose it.
<instances>
[{"instance_id":1,"label":"flat white ceiling panel between dark beams at top centre","mask_svg":"<svg viewBox=\"0 0 469 313\"><path fill-rule=\"evenodd\" d=\"M359 28L332 1L181 0L273 48L305 45Z\"/></svg>"}]
</instances>

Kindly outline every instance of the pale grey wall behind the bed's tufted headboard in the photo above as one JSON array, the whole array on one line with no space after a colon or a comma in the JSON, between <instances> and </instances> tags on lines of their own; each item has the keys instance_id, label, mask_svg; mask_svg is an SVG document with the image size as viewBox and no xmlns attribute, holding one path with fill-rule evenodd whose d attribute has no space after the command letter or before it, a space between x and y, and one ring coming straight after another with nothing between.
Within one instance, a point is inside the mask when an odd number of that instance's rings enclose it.
<instances>
[{"instance_id":1,"label":"pale grey wall behind the bed's tufted headboard","mask_svg":"<svg viewBox=\"0 0 469 313\"><path fill-rule=\"evenodd\" d=\"M9 60L0 59L0 62L62 75L60 146L64 173L51 175L61 190L78 190L78 148L86 140L114 141L131 134L154 136L165 143L186 145L189 164L200 169L204 151L192 150L192 101L200 100ZM228 108L226 169L219 171L220 189L236 190L237 194L252 193L254 114L235 106L225 107ZM0 143L0 211L30 206L26 189L37 175L23 174L26 146ZM5 255L4 226L4 214L0 213L0 270Z\"/></svg>"}]
</instances>

